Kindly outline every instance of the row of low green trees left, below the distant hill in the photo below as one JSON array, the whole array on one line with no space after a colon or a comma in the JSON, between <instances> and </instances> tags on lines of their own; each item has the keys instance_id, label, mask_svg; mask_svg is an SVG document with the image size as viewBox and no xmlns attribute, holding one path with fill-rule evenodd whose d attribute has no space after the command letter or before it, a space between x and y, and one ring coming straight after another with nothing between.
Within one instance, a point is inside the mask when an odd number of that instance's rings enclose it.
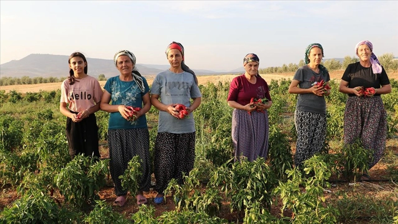
<instances>
[{"instance_id":1,"label":"row of low green trees left, below the distant hill","mask_svg":"<svg viewBox=\"0 0 398 224\"><path fill-rule=\"evenodd\" d=\"M21 84L39 84L39 83L60 83L63 82L67 77L1 77L0 86L10 86L10 85L21 85ZM98 81L106 81L105 75L98 75Z\"/></svg>"}]
</instances>

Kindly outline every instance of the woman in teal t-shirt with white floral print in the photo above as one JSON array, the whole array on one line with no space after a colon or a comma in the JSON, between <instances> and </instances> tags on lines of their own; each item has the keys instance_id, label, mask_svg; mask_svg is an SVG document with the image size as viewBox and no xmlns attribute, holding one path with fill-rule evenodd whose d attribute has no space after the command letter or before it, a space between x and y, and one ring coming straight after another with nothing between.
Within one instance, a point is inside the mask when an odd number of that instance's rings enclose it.
<instances>
[{"instance_id":1,"label":"woman in teal t-shirt with white floral print","mask_svg":"<svg viewBox=\"0 0 398 224\"><path fill-rule=\"evenodd\" d=\"M111 113L108 125L109 170L117 196L115 204L123 206L126 202L127 190L121 186L119 176L124 174L135 155L139 155L142 169L137 204L146 204L148 200L142 192L150 188L149 132L145 117L151 108L149 86L135 66L133 53L119 51L113 61L120 75L107 80L100 106L101 110ZM109 104L111 100L112 105ZM136 109L131 110L131 107Z\"/></svg>"}]
</instances>

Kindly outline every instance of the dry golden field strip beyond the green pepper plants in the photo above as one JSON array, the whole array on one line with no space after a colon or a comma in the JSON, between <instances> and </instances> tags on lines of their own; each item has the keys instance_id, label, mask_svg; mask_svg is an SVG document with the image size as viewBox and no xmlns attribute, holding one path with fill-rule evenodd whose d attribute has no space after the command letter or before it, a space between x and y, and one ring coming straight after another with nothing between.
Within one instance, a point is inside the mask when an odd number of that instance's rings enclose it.
<instances>
[{"instance_id":1,"label":"dry golden field strip beyond the green pepper plants","mask_svg":"<svg viewBox=\"0 0 398 224\"><path fill-rule=\"evenodd\" d=\"M330 73L331 79L340 80L344 71L333 71ZM293 79L294 73L275 73L275 74L261 74L261 77L265 79L268 83L271 82L271 79ZM199 84L206 84L207 82L218 83L219 81L231 81L232 78L236 77L236 75L209 75L209 76L198 76ZM398 79L398 71L388 73L388 77L390 79ZM152 84L153 76L147 79L148 84ZM106 81L100 81L101 86L105 85ZM61 83L41 83L41 84L25 84L25 85L12 85L12 86L0 86L0 90L6 90L9 92L10 90L16 90L17 92L26 93L26 92L39 92L40 90L44 91L52 91L57 90L61 86Z\"/></svg>"}]
</instances>

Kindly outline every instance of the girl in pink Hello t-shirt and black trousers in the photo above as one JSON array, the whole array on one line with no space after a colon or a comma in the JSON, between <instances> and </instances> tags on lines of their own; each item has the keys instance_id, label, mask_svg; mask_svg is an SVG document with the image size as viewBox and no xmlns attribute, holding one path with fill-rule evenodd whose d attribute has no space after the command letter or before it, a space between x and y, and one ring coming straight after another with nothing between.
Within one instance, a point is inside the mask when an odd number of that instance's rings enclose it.
<instances>
[{"instance_id":1,"label":"girl in pink Hello t-shirt and black trousers","mask_svg":"<svg viewBox=\"0 0 398 224\"><path fill-rule=\"evenodd\" d=\"M100 157L95 112L100 110L102 89L98 80L87 75L87 60L80 52L69 57L69 77L61 84L60 112L66 118L69 154ZM68 108L66 104L69 103Z\"/></svg>"}]
</instances>

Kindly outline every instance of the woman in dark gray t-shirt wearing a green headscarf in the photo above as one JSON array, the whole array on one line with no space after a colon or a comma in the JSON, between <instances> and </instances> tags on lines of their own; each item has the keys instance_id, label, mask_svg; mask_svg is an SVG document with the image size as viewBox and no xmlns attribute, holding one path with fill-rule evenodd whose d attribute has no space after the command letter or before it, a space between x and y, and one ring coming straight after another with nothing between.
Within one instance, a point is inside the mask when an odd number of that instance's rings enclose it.
<instances>
[{"instance_id":1,"label":"woman in dark gray t-shirt wearing a green headscarf","mask_svg":"<svg viewBox=\"0 0 398 224\"><path fill-rule=\"evenodd\" d=\"M289 86L289 93L298 94L295 110L297 131L295 166L324 148L326 138L326 102L330 94L328 70L321 65L324 51L319 43L312 43L305 51L306 65L297 69ZM320 84L320 85L319 85Z\"/></svg>"}]
</instances>

